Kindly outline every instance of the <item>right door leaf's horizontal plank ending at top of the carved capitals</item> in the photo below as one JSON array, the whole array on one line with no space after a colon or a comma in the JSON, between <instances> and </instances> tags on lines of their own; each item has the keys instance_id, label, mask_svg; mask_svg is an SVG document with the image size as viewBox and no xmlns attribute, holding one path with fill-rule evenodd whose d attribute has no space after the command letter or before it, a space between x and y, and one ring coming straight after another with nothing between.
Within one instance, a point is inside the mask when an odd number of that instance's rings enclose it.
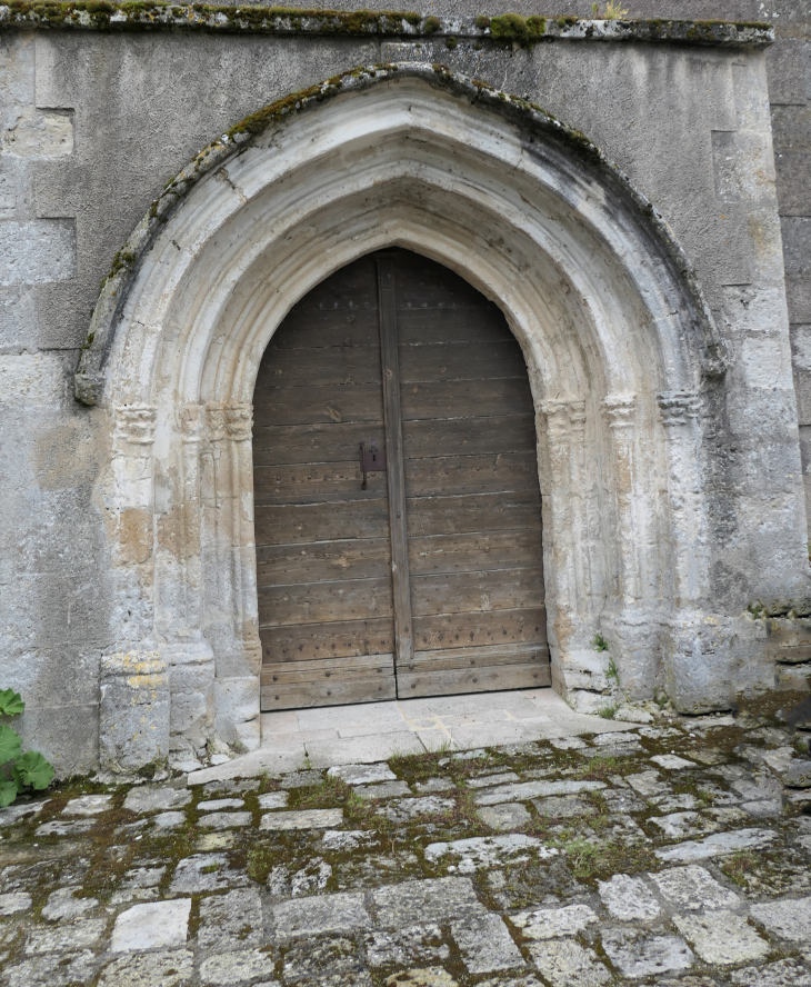
<instances>
[{"instance_id":1,"label":"right door leaf's horizontal plank ending at top of the carved capitals","mask_svg":"<svg viewBox=\"0 0 811 987\"><path fill-rule=\"evenodd\" d=\"M524 370L524 378L527 371ZM532 393L520 378L480 380L433 380L402 383L400 403L403 421L435 418L484 418L497 415L534 415Z\"/></svg>"}]
</instances>

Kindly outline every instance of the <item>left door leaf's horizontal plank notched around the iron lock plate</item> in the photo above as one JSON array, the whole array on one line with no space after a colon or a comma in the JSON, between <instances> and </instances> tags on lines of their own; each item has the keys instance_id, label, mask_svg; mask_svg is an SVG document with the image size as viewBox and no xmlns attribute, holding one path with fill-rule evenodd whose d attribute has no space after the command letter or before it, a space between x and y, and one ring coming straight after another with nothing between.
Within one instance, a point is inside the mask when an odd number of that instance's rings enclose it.
<instances>
[{"instance_id":1,"label":"left door leaf's horizontal plank notched around the iron lock plate","mask_svg":"<svg viewBox=\"0 0 811 987\"><path fill-rule=\"evenodd\" d=\"M360 443L386 449L382 425L280 425L253 430L253 465L360 461Z\"/></svg>"}]
</instances>

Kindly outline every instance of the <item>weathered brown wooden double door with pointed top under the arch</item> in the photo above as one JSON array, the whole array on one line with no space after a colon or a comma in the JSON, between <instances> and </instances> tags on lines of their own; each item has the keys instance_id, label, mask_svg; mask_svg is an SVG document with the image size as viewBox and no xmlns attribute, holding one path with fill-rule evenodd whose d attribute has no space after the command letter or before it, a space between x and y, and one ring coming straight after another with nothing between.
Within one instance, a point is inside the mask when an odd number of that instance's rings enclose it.
<instances>
[{"instance_id":1,"label":"weathered brown wooden double door with pointed top under the arch","mask_svg":"<svg viewBox=\"0 0 811 987\"><path fill-rule=\"evenodd\" d=\"M550 684L527 368L467 281L387 250L314 288L253 466L263 710Z\"/></svg>"}]
</instances>

